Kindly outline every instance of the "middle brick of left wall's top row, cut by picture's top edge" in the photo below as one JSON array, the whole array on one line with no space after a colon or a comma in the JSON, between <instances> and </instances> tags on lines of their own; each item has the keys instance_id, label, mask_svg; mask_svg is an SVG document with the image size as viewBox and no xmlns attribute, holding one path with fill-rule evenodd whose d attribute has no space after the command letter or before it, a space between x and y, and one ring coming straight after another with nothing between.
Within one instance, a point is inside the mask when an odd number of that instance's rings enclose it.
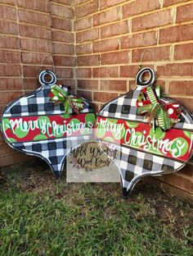
<instances>
[{"instance_id":1,"label":"middle brick of left wall's top row, cut by picture's top edge","mask_svg":"<svg viewBox=\"0 0 193 256\"><path fill-rule=\"evenodd\" d=\"M50 1L29 1L29 0L17 0L18 7L24 7L29 9L34 9L38 11L50 11Z\"/></svg>"}]
</instances>

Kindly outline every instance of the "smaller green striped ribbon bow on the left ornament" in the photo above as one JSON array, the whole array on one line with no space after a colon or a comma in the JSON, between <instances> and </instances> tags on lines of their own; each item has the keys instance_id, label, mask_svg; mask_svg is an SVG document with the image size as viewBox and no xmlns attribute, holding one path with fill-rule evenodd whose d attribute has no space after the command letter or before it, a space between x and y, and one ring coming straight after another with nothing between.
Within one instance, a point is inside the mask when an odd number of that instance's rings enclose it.
<instances>
[{"instance_id":1,"label":"smaller green striped ribbon bow on the left ornament","mask_svg":"<svg viewBox=\"0 0 193 256\"><path fill-rule=\"evenodd\" d=\"M65 117L70 117L72 112L79 114L83 110L83 98L70 94L68 87L53 85L49 97L56 105L64 104Z\"/></svg>"}]
</instances>

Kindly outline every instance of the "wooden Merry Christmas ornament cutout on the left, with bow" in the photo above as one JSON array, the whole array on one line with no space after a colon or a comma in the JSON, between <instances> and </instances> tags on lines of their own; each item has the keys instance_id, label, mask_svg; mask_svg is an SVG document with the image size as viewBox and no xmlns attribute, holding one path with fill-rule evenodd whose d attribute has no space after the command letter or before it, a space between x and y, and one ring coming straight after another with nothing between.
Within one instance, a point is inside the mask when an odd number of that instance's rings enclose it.
<instances>
[{"instance_id":1,"label":"wooden Merry Christmas ornament cutout on the left, with bow","mask_svg":"<svg viewBox=\"0 0 193 256\"><path fill-rule=\"evenodd\" d=\"M92 136L95 112L88 100L70 94L56 80L55 72L41 71L42 86L2 112L1 130L11 148L43 158L60 177L70 149Z\"/></svg>"}]
</instances>

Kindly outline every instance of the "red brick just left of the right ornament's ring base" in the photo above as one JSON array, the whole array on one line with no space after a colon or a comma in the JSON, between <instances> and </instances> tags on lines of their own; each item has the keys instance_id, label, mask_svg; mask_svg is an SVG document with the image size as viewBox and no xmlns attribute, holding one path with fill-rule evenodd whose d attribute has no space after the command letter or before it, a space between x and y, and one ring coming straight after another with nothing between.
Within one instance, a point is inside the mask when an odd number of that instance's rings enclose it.
<instances>
[{"instance_id":1,"label":"red brick just left of the right ornament's ring base","mask_svg":"<svg viewBox=\"0 0 193 256\"><path fill-rule=\"evenodd\" d=\"M126 80L101 80L101 90L123 91L127 90Z\"/></svg>"}]
</instances>

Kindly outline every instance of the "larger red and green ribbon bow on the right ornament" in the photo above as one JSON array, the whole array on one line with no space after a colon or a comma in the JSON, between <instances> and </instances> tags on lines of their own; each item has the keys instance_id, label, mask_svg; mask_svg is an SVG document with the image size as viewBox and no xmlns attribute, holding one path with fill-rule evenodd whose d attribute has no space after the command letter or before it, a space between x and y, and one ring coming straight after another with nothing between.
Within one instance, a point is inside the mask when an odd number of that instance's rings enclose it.
<instances>
[{"instance_id":1,"label":"larger red and green ribbon bow on the right ornament","mask_svg":"<svg viewBox=\"0 0 193 256\"><path fill-rule=\"evenodd\" d=\"M182 109L177 103L164 103L160 100L160 88L155 89L148 86L141 89L141 94L137 98L137 114L146 115L150 126L155 125L163 130L169 130L179 121Z\"/></svg>"}]
</instances>

